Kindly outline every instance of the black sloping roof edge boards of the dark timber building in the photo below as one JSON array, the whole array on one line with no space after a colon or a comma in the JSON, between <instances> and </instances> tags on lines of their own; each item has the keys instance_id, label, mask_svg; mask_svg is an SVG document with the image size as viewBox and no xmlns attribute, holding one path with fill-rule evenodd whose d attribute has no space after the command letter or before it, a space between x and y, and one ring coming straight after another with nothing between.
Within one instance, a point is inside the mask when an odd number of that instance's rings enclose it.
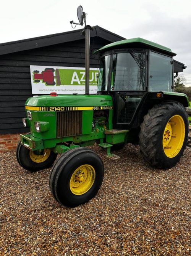
<instances>
[{"instance_id":1,"label":"black sloping roof edge boards of the dark timber building","mask_svg":"<svg viewBox=\"0 0 191 256\"><path fill-rule=\"evenodd\" d=\"M91 30L91 37L98 36L110 42L125 39L124 37L114 34L108 30L105 30L100 26L94 26L92 28L93 30ZM85 38L85 36L81 35L81 31L83 31L83 29L72 30L47 36L39 36L8 43L0 43L0 55L15 53L18 51L31 50L49 45L56 45L59 43L81 40Z\"/></svg>"}]
</instances>

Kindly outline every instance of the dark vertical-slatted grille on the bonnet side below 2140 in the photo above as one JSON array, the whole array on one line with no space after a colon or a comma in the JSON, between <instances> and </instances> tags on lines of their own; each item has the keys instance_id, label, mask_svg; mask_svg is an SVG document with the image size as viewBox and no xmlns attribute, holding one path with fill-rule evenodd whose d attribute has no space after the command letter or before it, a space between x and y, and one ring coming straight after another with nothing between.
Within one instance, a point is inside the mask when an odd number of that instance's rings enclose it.
<instances>
[{"instance_id":1,"label":"dark vertical-slatted grille on the bonnet side below 2140","mask_svg":"<svg viewBox=\"0 0 191 256\"><path fill-rule=\"evenodd\" d=\"M82 111L57 112L57 138L82 134Z\"/></svg>"}]
</instances>

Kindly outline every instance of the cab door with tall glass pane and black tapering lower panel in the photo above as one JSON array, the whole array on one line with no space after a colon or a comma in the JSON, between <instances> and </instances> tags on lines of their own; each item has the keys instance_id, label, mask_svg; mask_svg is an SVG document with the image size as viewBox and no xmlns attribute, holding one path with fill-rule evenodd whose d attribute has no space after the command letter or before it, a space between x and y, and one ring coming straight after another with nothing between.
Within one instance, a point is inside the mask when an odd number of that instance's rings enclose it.
<instances>
[{"instance_id":1,"label":"cab door with tall glass pane and black tapering lower panel","mask_svg":"<svg viewBox=\"0 0 191 256\"><path fill-rule=\"evenodd\" d=\"M146 50L129 49L114 53L110 81L114 128L128 129L146 93Z\"/></svg>"}]
</instances>

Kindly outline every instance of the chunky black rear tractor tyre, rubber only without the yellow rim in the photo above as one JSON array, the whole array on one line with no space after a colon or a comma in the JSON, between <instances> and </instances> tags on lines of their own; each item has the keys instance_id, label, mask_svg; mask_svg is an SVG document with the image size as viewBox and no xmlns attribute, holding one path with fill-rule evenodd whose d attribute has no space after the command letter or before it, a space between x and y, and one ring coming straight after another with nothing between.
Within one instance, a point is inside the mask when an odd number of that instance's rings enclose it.
<instances>
[{"instance_id":1,"label":"chunky black rear tractor tyre, rubber only without the yellow rim","mask_svg":"<svg viewBox=\"0 0 191 256\"><path fill-rule=\"evenodd\" d=\"M183 139L183 145L175 157L168 157L163 149L163 134L167 122L176 115L181 116L183 119L185 137ZM141 130L139 132L139 145L144 159L155 168L167 169L175 166L185 150L188 129L188 116L180 102L165 101L153 106L146 116L144 116L144 121L141 124Z\"/></svg>"}]
</instances>

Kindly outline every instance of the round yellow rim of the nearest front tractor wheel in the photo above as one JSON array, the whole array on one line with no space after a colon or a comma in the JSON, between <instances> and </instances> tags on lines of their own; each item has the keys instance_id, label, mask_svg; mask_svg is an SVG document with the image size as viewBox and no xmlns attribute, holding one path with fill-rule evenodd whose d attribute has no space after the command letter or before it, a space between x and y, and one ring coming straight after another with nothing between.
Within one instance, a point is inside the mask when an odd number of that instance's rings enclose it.
<instances>
[{"instance_id":1,"label":"round yellow rim of the nearest front tractor wheel","mask_svg":"<svg viewBox=\"0 0 191 256\"><path fill-rule=\"evenodd\" d=\"M94 181L94 168L88 164L81 165L71 176L70 190L74 195L83 195L92 187Z\"/></svg>"}]
</instances>

